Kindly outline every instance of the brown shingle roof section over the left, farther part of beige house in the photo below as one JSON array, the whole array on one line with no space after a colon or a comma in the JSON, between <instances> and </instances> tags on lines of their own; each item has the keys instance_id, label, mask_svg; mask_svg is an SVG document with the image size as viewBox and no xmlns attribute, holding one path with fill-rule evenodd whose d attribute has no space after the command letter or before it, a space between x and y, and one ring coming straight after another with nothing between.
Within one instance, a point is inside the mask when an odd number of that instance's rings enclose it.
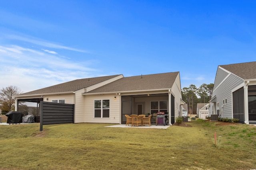
<instances>
[{"instance_id":1,"label":"brown shingle roof section over the left, farther part of beige house","mask_svg":"<svg viewBox=\"0 0 256 170\"><path fill-rule=\"evenodd\" d=\"M111 78L114 78L114 77L120 76L120 75L122 75L122 74L113 75L113 76L102 76L102 77L95 77L95 78L83 78L83 79L73 80L70 82L65 82L65 83L54 85L54 86L41 88L39 90L26 92L23 94L19 94L17 96L33 95L33 94L61 93L61 92L74 92L76 90L80 90L82 88L86 88L86 87L92 86L94 84L104 82L106 80L109 80Z\"/></svg>"}]
</instances>

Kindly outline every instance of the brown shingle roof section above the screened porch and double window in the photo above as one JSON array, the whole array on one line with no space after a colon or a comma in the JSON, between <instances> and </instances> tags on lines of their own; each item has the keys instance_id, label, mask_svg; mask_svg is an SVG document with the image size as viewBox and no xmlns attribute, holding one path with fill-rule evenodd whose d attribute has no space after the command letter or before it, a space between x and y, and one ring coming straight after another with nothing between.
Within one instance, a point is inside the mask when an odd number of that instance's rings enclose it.
<instances>
[{"instance_id":1,"label":"brown shingle roof section above the screened porch and double window","mask_svg":"<svg viewBox=\"0 0 256 170\"><path fill-rule=\"evenodd\" d=\"M172 88L179 72L149 74L120 78L87 93L124 92Z\"/></svg>"}]
</instances>

